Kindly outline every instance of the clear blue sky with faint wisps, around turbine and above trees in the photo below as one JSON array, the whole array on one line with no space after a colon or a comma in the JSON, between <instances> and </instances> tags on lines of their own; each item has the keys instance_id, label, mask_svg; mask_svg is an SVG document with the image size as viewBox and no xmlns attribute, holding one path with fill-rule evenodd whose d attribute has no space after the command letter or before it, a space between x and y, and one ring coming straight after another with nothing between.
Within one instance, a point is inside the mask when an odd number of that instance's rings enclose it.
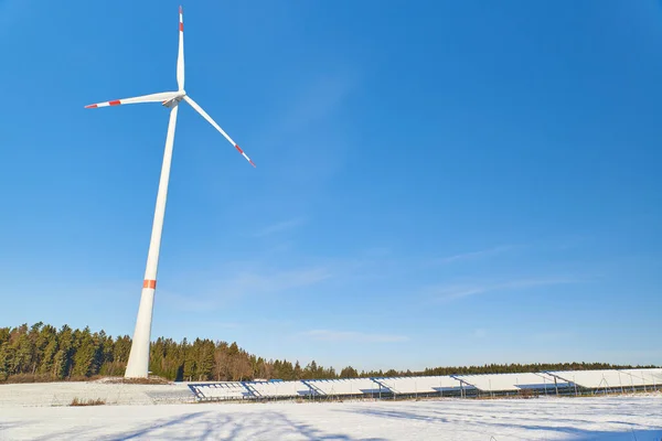
<instances>
[{"instance_id":1,"label":"clear blue sky with faint wisps, around turbine and above trees","mask_svg":"<svg viewBox=\"0 0 662 441\"><path fill-rule=\"evenodd\" d=\"M131 334L175 1L0 1L0 325ZM662 364L656 1L184 3L152 335Z\"/></svg>"}]
</instances>

